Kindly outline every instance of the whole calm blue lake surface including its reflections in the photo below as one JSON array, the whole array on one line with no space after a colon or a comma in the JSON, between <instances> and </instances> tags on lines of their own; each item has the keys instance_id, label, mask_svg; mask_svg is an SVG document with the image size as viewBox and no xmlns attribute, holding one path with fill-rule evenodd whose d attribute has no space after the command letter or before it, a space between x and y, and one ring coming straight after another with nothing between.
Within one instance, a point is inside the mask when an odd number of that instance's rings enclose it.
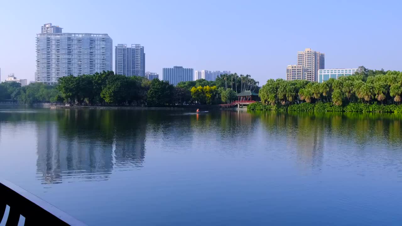
<instances>
[{"instance_id":1,"label":"whole calm blue lake surface including its reflections","mask_svg":"<svg viewBox=\"0 0 402 226\"><path fill-rule=\"evenodd\" d=\"M0 108L0 177L88 225L401 225L402 115Z\"/></svg>"}]
</instances>

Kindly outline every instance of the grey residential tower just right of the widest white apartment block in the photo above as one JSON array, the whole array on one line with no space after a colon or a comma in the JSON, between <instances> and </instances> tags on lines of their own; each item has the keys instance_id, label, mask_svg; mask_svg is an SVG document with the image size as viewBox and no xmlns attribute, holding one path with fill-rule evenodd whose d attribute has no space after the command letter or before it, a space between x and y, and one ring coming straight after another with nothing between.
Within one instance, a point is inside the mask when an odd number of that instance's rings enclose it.
<instances>
[{"instance_id":1,"label":"grey residential tower just right of the widest white apartment block","mask_svg":"<svg viewBox=\"0 0 402 226\"><path fill-rule=\"evenodd\" d=\"M118 44L115 48L115 73L125 76L145 77L144 46Z\"/></svg>"}]
</instances>

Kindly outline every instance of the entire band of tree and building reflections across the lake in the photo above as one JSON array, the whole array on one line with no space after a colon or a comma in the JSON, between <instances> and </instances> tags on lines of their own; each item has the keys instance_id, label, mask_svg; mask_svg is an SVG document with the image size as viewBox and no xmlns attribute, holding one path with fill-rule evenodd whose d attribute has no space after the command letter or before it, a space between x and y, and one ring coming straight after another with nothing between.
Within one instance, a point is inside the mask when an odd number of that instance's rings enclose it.
<instances>
[{"instance_id":1,"label":"entire band of tree and building reflections across the lake","mask_svg":"<svg viewBox=\"0 0 402 226\"><path fill-rule=\"evenodd\" d=\"M187 145L182 148L189 148L197 139L203 145L205 138L233 147L236 139L261 136L256 128L262 127L268 134L261 133L264 137L259 138L267 140L267 145L275 139L285 141L285 148L295 150L299 163L313 168L322 165L328 145L338 140L365 150L375 142L384 148L399 146L402 137L400 114L217 111L198 119L196 115L169 114L159 110L63 109L3 113L0 120L37 123L37 171L43 183L107 180L114 169L141 167L146 136L162 140L155 145L180 141Z\"/></svg>"}]
</instances>

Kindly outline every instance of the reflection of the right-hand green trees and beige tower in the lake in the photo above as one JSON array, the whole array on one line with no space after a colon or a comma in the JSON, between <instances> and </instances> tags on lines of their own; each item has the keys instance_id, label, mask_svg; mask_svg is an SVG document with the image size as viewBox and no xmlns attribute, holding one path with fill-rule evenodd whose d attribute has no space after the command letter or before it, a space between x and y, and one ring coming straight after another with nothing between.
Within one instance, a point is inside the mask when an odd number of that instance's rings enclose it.
<instances>
[{"instance_id":1,"label":"reflection of the right-hand green trees and beige tower in the lake","mask_svg":"<svg viewBox=\"0 0 402 226\"><path fill-rule=\"evenodd\" d=\"M260 117L269 134L286 137L287 148L297 150L298 161L312 167L322 165L328 145L343 142L364 150L375 143L400 145L402 136L401 114L275 111L251 114Z\"/></svg>"}]
</instances>

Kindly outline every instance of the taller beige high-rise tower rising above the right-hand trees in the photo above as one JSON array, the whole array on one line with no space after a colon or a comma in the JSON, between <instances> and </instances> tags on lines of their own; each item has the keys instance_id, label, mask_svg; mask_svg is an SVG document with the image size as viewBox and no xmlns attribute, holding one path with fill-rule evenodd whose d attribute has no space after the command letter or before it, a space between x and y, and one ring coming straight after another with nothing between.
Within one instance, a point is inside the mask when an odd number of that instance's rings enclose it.
<instances>
[{"instance_id":1,"label":"taller beige high-rise tower rising above the right-hand trees","mask_svg":"<svg viewBox=\"0 0 402 226\"><path fill-rule=\"evenodd\" d=\"M297 65L304 67L304 79L318 81L318 70L325 69L325 54L310 48L298 51Z\"/></svg>"}]
</instances>

